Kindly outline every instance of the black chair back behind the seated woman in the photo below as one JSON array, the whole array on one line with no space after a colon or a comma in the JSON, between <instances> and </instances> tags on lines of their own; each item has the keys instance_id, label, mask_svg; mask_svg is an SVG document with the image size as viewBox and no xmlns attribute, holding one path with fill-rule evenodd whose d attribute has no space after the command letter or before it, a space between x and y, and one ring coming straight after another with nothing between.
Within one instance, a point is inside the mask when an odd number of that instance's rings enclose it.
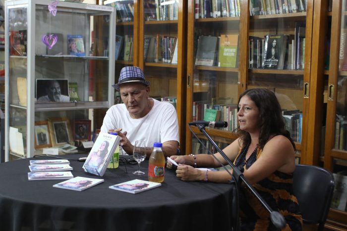
<instances>
[{"instance_id":1,"label":"black chair back behind the seated woman","mask_svg":"<svg viewBox=\"0 0 347 231\"><path fill-rule=\"evenodd\" d=\"M304 223L318 224L323 231L334 191L334 176L324 168L313 165L296 165L293 189Z\"/></svg>"}]
</instances>

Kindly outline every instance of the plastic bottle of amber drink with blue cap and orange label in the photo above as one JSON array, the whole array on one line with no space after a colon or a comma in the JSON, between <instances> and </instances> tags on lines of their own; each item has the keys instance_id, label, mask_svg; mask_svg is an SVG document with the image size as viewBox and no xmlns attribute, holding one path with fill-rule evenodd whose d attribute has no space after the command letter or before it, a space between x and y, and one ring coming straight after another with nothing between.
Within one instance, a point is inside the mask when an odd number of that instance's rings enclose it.
<instances>
[{"instance_id":1,"label":"plastic bottle of amber drink with blue cap and orange label","mask_svg":"<svg viewBox=\"0 0 347 231\"><path fill-rule=\"evenodd\" d=\"M149 157L148 181L162 183L165 174L165 157L162 150L163 144L155 142L154 149Z\"/></svg>"}]
</instances>

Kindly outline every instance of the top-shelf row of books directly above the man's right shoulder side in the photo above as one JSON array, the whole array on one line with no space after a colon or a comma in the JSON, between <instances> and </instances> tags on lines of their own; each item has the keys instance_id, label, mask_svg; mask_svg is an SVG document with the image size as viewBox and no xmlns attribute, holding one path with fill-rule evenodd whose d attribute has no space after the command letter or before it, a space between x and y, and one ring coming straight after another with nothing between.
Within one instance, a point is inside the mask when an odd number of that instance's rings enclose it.
<instances>
[{"instance_id":1,"label":"top-shelf row of books directly above the man's right shoulder side","mask_svg":"<svg viewBox=\"0 0 347 231\"><path fill-rule=\"evenodd\" d=\"M148 1L144 5L144 16L146 21L177 20L178 1Z\"/></svg>"}]
</instances>

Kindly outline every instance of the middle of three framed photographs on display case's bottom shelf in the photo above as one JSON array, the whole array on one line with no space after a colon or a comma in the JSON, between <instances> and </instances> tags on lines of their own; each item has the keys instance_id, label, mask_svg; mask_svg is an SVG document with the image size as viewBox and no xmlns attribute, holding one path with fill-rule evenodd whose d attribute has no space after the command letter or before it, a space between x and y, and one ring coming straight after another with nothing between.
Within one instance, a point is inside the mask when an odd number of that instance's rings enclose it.
<instances>
[{"instance_id":1,"label":"middle of three framed photographs on display case's bottom shelf","mask_svg":"<svg viewBox=\"0 0 347 231\"><path fill-rule=\"evenodd\" d=\"M48 124L50 128L52 146L59 146L71 142L71 126L66 117L49 118Z\"/></svg>"}]
</instances>

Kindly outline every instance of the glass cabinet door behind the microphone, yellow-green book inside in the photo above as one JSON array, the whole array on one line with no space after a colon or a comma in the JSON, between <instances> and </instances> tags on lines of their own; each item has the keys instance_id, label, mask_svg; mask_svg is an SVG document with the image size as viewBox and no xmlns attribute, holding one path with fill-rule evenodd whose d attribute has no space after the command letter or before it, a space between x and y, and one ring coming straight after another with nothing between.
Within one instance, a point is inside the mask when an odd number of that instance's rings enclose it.
<instances>
[{"instance_id":1,"label":"glass cabinet door behind the microphone, yellow-green book inside","mask_svg":"<svg viewBox=\"0 0 347 231\"><path fill-rule=\"evenodd\" d=\"M188 21L191 24L188 44L191 46L188 46L187 120L226 121L226 128L206 129L224 148L237 138L232 131L237 127L240 51L243 46L240 15L247 10L241 9L240 1L221 1L222 6L216 2L188 2ZM214 152L198 129L190 128L202 138L202 143L187 128L186 154Z\"/></svg>"}]
</instances>

